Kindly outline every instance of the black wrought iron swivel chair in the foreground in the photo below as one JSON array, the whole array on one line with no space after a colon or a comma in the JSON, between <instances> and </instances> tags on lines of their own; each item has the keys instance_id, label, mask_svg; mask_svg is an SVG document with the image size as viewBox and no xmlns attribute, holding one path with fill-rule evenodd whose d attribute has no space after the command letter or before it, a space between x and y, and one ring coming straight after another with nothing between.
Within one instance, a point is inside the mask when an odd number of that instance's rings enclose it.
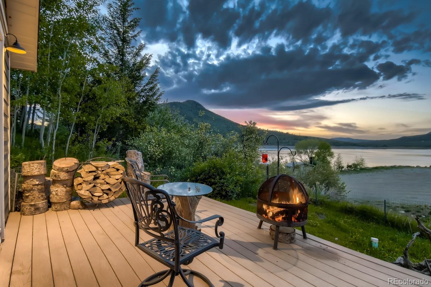
<instances>
[{"instance_id":1,"label":"black wrought iron swivel chair in the foreground","mask_svg":"<svg viewBox=\"0 0 431 287\"><path fill-rule=\"evenodd\" d=\"M197 221L184 219L175 210L175 203L172 202L166 191L130 177L124 177L123 180L126 183L127 195L132 203L136 228L135 246L169 267L167 270L157 272L146 278L139 286L159 283L170 275L168 285L170 287L173 285L175 277L179 275L187 286L192 287L193 285L186 277L188 274L199 277L206 284L212 286L205 275L194 270L183 269L181 265L190 264L196 256L211 248L223 248L225 233L217 230L223 224L223 217L213 215ZM150 200L150 197L155 199ZM217 219L214 229L215 236L219 240L195 229L179 226L179 219L191 223ZM140 244L140 229L153 238Z\"/></svg>"}]
</instances>

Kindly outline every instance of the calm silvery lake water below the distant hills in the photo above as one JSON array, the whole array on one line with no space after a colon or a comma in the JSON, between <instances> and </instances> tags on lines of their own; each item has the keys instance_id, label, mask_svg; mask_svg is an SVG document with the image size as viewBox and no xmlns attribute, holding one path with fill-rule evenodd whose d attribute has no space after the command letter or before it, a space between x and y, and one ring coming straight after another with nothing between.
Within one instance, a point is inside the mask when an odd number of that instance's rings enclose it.
<instances>
[{"instance_id":1,"label":"calm silvery lake water below the distant hills","mask_svg":"<svg viewBox=\"0 0 431 287\"><path fill-rule=\"evenodd\" d=\"M294 150L294 146L289 146ZM341 154L344 164L352 163L356 156L362 156L368 167L409 165L429 167L431 165L431 149L395 149L395 148L333 148L334 154ZM267 145L269 157L277 157L277 146ZM280 156L290 155L283 149Z\"/></svg>"}]
</instances>

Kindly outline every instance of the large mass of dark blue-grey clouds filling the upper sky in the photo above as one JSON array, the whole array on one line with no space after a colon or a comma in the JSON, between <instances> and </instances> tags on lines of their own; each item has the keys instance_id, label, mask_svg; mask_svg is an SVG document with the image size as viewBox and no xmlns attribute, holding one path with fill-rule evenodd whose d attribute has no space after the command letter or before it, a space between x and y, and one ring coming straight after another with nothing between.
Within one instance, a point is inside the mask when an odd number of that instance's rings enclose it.
<instances>
[{"instance_id":1,"label":"large mass of dark blue-grey clouds filling the upper sky","mask_svg":"<svg viewBox=\"0 0 431 287\"><path fill-rule=\"evenodd\" d=\"M136 5L143 40L169 43L156 65L171 100L315 108L371 99L315 99L326 93L383 88L382 80L411 80L413 65L431 67L429 60L389 59L393 52L431 51L429 23L418 20L428 18L420 18L420 10L403 9L405 3L143 0ZM240 52L230 50L236 40L237 47L245 45ZM413 95L392 97L423 99Z\"/></svg>"}]
</instances>

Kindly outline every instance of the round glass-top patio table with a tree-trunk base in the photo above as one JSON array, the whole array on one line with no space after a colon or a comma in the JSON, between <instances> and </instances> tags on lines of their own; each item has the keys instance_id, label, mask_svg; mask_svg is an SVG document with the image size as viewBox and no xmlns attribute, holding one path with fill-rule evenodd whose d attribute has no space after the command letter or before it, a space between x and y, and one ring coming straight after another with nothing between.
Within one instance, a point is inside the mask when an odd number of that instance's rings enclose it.
<instances>
[{"instance_id":1,"label":"round glass-top patio table with a tree-trunk base","mask_svg":"<svg viewBox=\"0 0 431 287\"><path fill-rule=\"evenodd\" d=\"M208 185L195 182L170 182L159 185L169 195L175 196L175 210L187 220L195 221L197 205L203 195L209 194L212 188ZM180 219L180 225L197 229L196 224Z\"/></svg>"}]
</instances>

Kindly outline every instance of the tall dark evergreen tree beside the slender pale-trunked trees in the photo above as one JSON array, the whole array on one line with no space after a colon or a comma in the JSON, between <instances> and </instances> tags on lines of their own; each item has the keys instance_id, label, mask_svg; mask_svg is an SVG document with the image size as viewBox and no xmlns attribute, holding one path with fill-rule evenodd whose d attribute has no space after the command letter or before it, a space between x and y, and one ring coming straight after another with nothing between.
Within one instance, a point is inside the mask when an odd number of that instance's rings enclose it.
<instances>
[{"instance_id":1,"label":"tall dark evergreen tree beside the slender pale-trunked trees","mask_svg":"<svg viewBox=\"0 0 431 287\"><path fill-rule=\"evenodd\" d=\"M128 111L119 119L119 124L110 129L116 131L117 141L124 142L144 129L145 117L159 102L163 92L157 78L159 68L147 75L152 55L143 55L144 43L134 46L141 34L141 30L137 31L141 18L132 14L139 8L134 7L132 0L116 0L108 3L107 8L102 57L107 64L118 67L114 75L118 79L127 78L132 92L126 99Z\"/></svg>"}]
</instances>

